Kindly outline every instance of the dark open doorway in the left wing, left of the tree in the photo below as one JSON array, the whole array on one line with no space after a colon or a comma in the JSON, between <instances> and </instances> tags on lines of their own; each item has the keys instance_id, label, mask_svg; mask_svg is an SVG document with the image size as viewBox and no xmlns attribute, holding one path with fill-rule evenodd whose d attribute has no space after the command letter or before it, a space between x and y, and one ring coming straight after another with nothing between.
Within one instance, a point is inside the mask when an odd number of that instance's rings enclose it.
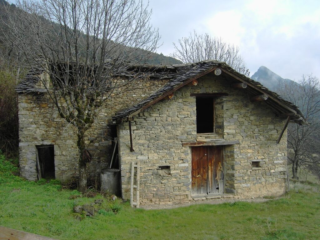
<instances>
[{"instance_id":1,"label":"dark open doorway in the left wing, left of the tree","mask_svg":"<svg viewBox=\"0 0 320 240\"><path fill-rule=\"evenodd\" d=\"M36 146L38 179L55 179L53 145Z\"/></svg>"}]
</instances>

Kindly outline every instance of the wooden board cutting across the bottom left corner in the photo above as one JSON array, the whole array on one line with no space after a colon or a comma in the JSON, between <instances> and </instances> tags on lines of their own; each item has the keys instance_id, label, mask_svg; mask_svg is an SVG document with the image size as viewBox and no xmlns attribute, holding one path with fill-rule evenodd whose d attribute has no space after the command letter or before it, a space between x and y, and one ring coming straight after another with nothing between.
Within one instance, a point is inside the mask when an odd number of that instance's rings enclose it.
<instances>
[{"instance_id":1,"label":"wooden board cutting across the bottom left corner","mask_svg":"<svg viewBox=\"0 0 320 240\"><path fill-rule=\"evenodd\" d=\"M44 237L32 233L27 233L12 228L0 226L0 240L56 240L50 237Z\"/></svg>"}]
</instances>

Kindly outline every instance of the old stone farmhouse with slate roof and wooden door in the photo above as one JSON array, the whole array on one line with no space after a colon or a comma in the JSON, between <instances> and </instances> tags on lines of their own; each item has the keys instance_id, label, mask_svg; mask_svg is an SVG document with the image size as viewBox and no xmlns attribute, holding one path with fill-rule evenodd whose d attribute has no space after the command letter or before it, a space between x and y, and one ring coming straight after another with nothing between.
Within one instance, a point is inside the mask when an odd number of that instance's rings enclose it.
<instances>
[{"instance_id":1,"label":"old stone farmhouse with slate roof and wooden door","mask_svg":"<svg viewBox=\"0 0 320 240\"><path fill-rule=\"evenodd\" d=\"M148 77L130 81L138 68ZM46 77L36 69L17 87L20 174L68 182L78 174L76 130L39 84ZM137 206L285 192L286 127L304 122L295 105L215 60L114 77L128 84L86 133L91 179L119 168L121 196Z\"/></svg>"}]
</instances>

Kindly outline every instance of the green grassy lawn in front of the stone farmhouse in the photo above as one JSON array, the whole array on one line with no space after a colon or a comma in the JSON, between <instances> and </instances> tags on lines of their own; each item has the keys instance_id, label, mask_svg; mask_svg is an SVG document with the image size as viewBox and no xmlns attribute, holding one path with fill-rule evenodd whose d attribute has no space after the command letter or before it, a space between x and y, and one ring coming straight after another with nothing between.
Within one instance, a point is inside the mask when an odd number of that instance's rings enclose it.
<instances>
[{"instance_id":1,"label":"green grassy lawn in front of the stone farmhouse","mask_svg":"<svg viewBox=\"0 0 320 240\"><path fill-rule=\"evenodd\" d=\"M56 181L22 180L14 171L0 155L0 225L56 239L320 239L315 185L265 203L143 210L100 195L70 197L79 193ZM75 205L102 198L102 210L93 217L73 213Z\"/></svg>"}]
</instances>

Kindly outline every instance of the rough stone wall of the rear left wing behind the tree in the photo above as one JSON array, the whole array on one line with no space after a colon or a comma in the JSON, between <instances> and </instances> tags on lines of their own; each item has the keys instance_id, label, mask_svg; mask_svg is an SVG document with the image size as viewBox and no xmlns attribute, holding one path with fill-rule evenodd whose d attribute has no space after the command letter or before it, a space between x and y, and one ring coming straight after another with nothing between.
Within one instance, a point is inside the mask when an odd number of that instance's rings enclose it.
<instances>
[{"instance_id":1,"label":"rough stone wall of the rear left wing behind the tree","mask_svg":"<svg viewBox=\"0 0 320 240\"><path fill-rule=\"evenodd\" d=\"M87 164L93 180L100 180L100 171L108 166L111 157L112 140L116 136L116 127L110 124L111 117L116 111L149 96L167 80L144 79L128 83L118 78L116 81L123 86L115 89L85 136L87 149L93 156L92 162ZM48 94L19 95L19 138L21 177L37 180L36 146L39 145L54 145L56 179L68 182L77 177L76 128L60 118Z\"/></svg>"}]
</instances>

